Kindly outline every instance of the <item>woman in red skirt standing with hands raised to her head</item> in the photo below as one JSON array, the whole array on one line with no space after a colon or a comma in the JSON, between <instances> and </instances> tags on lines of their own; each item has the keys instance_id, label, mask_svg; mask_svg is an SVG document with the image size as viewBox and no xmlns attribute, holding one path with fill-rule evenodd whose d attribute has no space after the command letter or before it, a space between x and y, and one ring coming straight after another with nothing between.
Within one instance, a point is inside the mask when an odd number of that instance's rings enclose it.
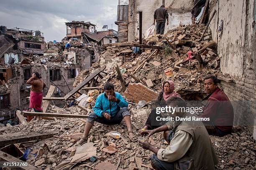
<instances>
[{"instance_id":1,"label":"woman in red skirt standing with hands raised to her head","mask_svg":"<svg viewBox=\"0 0 256 170\"><path fill-rule=\"evenodd\" d=\"M46 84L41 80L41 76L38 72L33 72L32 77L28 79L27 84L31 84L29 108L33 108L35 112L42 112L43 90ZM28 117L28 122L31 117Z\"/></svg>"}]
</instances>

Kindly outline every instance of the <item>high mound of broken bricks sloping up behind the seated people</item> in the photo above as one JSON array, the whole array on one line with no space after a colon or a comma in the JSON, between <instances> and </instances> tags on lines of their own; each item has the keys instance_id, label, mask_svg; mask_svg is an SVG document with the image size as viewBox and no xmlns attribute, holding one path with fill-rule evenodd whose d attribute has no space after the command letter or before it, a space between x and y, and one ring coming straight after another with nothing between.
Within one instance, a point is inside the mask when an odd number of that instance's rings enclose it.
<instances>
[{"instance_id":1,"label":"high mound of broken bricks sloping up behind the seated people","mask_svg":"<svg viewBox=\"0 0 256 170\"><path fill-rule=\"evenodd\" d=\"M189 96L188 94L198 93L196 100L200 100L205 95L203 78L209 74L218 77L223 76L220 71L220 56L216 54L216 43L211 40L210 29L205 33L204 41L199 42L204 29L204 24L200 26L187 25L169 30L165 35L150 36L143 40L149 45L164 48L164 50L156 51L156 53L154 53L154 49L148 48L141 48L140 53L134 54L130 47L107 47L100 60L108 60L105 59L106 56L113 58L123 56L120 69L125 69L122 76L127 86L130 83L138 82L131 77L131 74L138 77L140 83L155 91L161 91L162 82L169 79L174 81L175 91L182 97L186 98ZM167 53L168 51L165 50L168 44L166 39L172 44L170 45L171 53ZM188 51L192 51L194 56L199 56L202 62L195 58L188 60ZM154 53L153 56L152 53ZM150 58L148 59L148 57ZM101 61L99 62L101 63ZM143 65L135 71L142 63ZM98 65L92 67L97 69ZM169 72L168 75L165 73L166 71ZM117 79L115 67L108 73L108 77L110 77L108 81L112 82L116 89L120 89L121 84ZM81 76L79 77L81 79ZM105 81L102 80L100 84L104 83ZM186 99L195 100L195 96Z\"/></svg>"}]
</instances>

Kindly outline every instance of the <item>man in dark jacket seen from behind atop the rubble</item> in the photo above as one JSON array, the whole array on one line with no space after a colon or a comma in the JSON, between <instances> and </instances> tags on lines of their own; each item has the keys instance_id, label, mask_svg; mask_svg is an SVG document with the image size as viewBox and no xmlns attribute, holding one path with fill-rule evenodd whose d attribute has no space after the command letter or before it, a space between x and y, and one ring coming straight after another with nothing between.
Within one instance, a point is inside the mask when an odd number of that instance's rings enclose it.
<instances>
[{"instance_id":1,"label":"man in dark jacket seen from behind atop the rubble","mask_svg":"<svg viewBox=\"0 0 256 170\"><path fill-rule=\"evenodd\" d=\"M165 21L167 20L167 25L169 25L169 15L162 5L160 8L156 9L154 12L154 25L156 23L156 34L164 34Z\"/></svg>"}]
</instances>

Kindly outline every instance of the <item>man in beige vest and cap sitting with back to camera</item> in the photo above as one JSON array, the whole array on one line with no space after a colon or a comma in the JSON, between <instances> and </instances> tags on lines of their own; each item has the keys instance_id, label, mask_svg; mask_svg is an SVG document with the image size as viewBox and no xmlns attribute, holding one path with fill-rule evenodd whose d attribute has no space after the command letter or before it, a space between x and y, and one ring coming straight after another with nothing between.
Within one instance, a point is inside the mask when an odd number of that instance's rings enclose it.
<instances>
[{"instance_id":1,"label":"man in beige vest and cap sitting with back to camera","mask_svg":"<svg viewBox=\"0 0 256 170\"><path fill-rule=\"evenodd\" d=\"M187 107L186 102L177 96L169 98L170 107ZM186 112L174 112L170 117L191 117ZM193 115L195 116L195 115ZM201 121L169 121L163 126L141 132L151 135L164 132L164 138L169 143L165 149L158 149L149 142L141 142L143 149L154 152L151 155L151 165L156 170L215 170L218 158L215 154L210 137Z\"/></svg>"}]
</instances>

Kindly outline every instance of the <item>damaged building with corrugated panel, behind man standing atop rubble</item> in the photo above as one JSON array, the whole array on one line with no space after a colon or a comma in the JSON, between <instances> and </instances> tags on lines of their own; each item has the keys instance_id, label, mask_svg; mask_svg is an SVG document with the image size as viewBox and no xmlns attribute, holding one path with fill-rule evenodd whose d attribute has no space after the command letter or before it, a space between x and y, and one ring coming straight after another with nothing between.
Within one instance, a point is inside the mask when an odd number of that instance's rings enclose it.
<instances>
[{"instance_id":1,"label":"damaged building with corrugated panel, behind man standing atop rubble","mask_svg":"<svg viewBox=\"0 0 256 170\"><path fill-rule=\"evenodd\" d=\"M117 21L118 42L132 42L139 38L139 12L142 14L142 33L153 25L154 11L161 5L165 5L169 13L169 25L167 30L191 23L191 9L193 0L119 0Z\"/></svg>"}]
</instances>

